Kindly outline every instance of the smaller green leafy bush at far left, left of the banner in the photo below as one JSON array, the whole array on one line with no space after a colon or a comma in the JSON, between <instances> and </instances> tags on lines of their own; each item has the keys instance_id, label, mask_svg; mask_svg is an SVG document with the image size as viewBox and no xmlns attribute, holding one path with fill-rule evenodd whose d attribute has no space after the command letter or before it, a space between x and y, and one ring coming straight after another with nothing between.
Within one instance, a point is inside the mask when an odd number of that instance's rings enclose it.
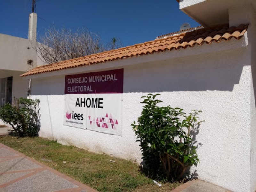
<instances>
[{"instance_id":1,"label":"smaller green leafy bush at far left, left of the banner","mask_svg":"<svg viewBox=\"0 0 256 192\"><path fill-rule=\"evenodd\" d=\"M13 128L10 134L35 137L39 131L39 100L14 98L14 105L7 103L0 108L0 118Z\"/></svg>"}]
</instances>

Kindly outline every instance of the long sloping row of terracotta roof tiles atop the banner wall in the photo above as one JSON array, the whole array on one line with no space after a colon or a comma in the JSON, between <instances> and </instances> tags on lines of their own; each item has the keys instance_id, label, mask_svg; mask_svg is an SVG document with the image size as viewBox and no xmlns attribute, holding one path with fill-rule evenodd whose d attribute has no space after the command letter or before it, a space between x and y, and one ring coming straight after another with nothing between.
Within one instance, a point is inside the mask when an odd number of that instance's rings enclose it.
<instances>
[{"instance_id":1,"label":"long sloping row of terracotta roof tiles atop the banner wall","mask_svg":"<svg viewBox=\"0 0 256 192\"><path fill-rule=\"evenodd\" d=\"M29 76L51 71L57 71L68 68L75 68L96 63L105 63L108 61L131 58L144 54L153 54L154 52L172 51L173 49L194 47L204 43L220 42L231 38L241 38L248 28L248 24L241 24L238 27L218 26L215 28L200 28L191 32L186 32L176 36L170 36L162 39L156 39L141 44L135 44L116 50L96 53L76 59L61 61L36 67L21 76Z\"/></svg>"}]
</instances>

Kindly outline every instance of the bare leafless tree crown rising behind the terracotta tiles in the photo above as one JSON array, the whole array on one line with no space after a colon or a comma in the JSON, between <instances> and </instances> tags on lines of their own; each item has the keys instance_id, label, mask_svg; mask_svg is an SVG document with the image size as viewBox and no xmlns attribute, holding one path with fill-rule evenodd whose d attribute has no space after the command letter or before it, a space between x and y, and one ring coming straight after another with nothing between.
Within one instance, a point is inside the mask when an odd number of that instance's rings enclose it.
<instances>
[{"instance_id":1,"label":"bare leafless tree crown rising behind the terracotta tiles","mask_svg":"<svg viewBox=\"0 0 256 192\"><path fill-rule=\"evenodd\" d=\"M98 52L116 49L122 46L120 39L112 38L110 43L103 44L100 36L86 28L48 29L33 48L39 53L45 63L55 63L63 60L83 57Z\"/></svg>"}]
</instances>

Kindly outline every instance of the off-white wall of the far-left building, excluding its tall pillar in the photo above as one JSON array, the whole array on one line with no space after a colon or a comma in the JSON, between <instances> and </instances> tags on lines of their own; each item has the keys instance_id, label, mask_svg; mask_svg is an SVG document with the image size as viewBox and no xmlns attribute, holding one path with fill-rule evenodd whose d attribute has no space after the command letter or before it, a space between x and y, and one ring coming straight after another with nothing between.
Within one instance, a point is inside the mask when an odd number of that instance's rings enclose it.
<instances>
[{"instance_id":1,"label":"off-white wall of the far-left building, excluding its tall pillar","mask_svg":"<svg viewBox=\"0 0 256 192\"><path fill-rule=\"evenodd\" d=\"M28 60L33 60L33 65L28 65ZM14 97L27 97L29 79L20 75L42 64L28 39L0 34L0 78L13 77L12 101ZM0 124L4 123L0 120Z\"/></svg>"}]
</instances>

